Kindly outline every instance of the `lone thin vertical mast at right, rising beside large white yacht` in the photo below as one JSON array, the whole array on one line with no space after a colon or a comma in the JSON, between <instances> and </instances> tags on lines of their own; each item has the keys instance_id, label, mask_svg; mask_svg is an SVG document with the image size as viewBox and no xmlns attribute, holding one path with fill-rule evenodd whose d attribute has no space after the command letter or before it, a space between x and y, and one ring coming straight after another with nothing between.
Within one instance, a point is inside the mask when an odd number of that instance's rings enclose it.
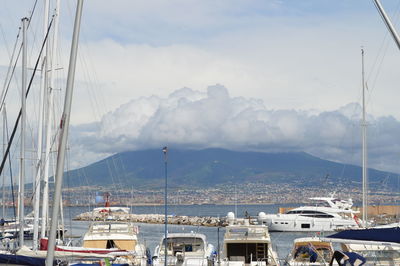
<instances>
[{"instance_id":1,"label":"lone thin vertical mast at right, rising beside large white yacht","mask_svg":"<svg viewBox=\"0 0 400 266\"><path fill-rule=\"evenodd\" d=\"M368 171L367 171L367 122L365 118L365 74L364 74L364 49L361 49L362 63L362 183L363 183L363 221L364 227L368 226Z\"/></svg>"}]
</instances>

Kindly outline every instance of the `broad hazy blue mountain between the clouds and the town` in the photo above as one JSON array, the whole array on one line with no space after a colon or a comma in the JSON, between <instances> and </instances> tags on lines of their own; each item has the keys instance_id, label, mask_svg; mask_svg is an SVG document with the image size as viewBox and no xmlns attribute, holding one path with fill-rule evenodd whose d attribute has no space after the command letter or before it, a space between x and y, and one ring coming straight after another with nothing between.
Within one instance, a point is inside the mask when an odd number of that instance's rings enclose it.
<instances>
[{"instance_id":1,"label":"broad hazy blue mountain between the clouds and the town","mask_svg":"<svg viewBox=\"0 0 400 266\"><path fill-rule=\"evenodd\" d=\"M161 149L122 152L66 172L65 185L160 188L164 185ZM222 184L264 183L319 187L353 184L361 187L361 168L320 159L304 152L263 153L224 149L168 151L168 182L172 187L203 188ZM369 170L371 184L397 184L396 174ZM389 178L387 178L389 177Z\"/></svg>"}]
</instances>

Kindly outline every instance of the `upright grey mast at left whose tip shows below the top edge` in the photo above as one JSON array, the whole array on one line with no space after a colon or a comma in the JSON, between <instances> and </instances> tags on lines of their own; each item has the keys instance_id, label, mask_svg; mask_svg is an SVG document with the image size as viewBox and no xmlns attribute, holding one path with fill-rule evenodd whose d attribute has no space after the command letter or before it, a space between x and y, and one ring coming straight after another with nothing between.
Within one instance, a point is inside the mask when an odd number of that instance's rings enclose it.
<instances>
[{"instance_id":1,"label":"upright grey mast at left whose tip shows below the top edge","mask_svg":"<svg viewBox=\"0 0 400 266\"><path fill-rule=\"evenodd\" d=\"M28 18L22 19L22 84L21 84L21 153L20 153L20 171L19 171L19 195L18 195L18 219L19 219L19 246L24 245L24 195L25 195L25 122L26 122L26 77L27 77L27 38L26 28Z\"/></svg>"}]
</instances>

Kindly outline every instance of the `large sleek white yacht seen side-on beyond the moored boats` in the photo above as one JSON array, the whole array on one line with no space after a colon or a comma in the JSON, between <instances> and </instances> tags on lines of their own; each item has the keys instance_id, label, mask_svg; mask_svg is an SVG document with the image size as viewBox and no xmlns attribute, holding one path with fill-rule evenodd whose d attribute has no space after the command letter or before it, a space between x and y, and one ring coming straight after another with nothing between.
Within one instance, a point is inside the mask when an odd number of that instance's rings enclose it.
<instances>
[{"instance_id":1,"label":"large sleek white yacht seen side-on beyond the moored boats","mask_svg":"<svg viewBox=\"0 0 400 266\"><path fill-rule=\"evenodd\" d=\"M259 215L259 223L271 232L319 232L359 227L356 211L351 210L352 201L332 197L310 198L315 206L302 206L286 213Z\"/></svg>"}]
</instances>

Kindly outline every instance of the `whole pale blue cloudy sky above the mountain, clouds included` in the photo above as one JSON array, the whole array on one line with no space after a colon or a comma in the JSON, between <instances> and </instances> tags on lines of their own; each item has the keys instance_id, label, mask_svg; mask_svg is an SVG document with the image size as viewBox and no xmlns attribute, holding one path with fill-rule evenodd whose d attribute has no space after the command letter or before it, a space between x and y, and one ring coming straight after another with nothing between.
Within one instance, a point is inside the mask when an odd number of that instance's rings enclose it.
<instances>
[{"instance_id":1,"label":"whole pale blue cloudy sky above the mountain, clouds included","mask_svg":"<svg viewBox=\"0 0 400 266\"><path fill-rule=\"evenodd\" d=\"M62 2L58 110L75 12L75 1ZM20 18L34 3L2 0L2 81ZM399 28L400 0L382 4ZM32 55L42 16L39 0L28 31ZM305 151L359 165L361 47L369 163L400 173L400 51L372 0L85 0L71 165L165 145Z\"/></svg>"}]
</instances>

